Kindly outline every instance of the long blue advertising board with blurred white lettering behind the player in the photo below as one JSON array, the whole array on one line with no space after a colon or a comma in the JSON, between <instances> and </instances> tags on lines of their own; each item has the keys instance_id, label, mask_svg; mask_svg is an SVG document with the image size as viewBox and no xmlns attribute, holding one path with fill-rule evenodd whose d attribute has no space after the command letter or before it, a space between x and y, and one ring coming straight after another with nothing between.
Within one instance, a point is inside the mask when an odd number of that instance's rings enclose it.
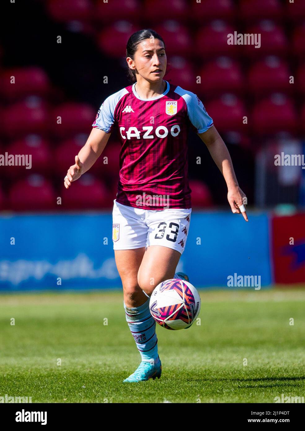
<instances>
[{"instance_id":1,"label":"long blue advertising board with blurred white lettering behind the player","mask_svg":"<svg viewBox=\"0 0 305 431\"><path fill-rule=\"evenodd\" d=\"M267 214L192 212L177 267L196 287L227 287L228 276L271 284ZM0 291L121 288L112 215L0 216Z\"/></svg>"}]
</instances>

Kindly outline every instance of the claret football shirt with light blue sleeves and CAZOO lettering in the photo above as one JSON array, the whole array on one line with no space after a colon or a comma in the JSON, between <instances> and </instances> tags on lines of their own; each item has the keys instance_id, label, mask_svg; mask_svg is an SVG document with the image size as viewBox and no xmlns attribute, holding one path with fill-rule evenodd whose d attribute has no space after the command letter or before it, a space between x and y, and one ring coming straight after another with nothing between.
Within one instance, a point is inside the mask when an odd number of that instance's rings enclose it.
<instances>
[{"instance_id":1,"label":"claret football shirt with light blue sleeves and CAZOO lettering","mask_svg":"<svg viewBox=\"0 0 305 431\"><path fill-rule=\"evenodd\" d=\"M196 94L169 84L163 94L141 99L135 83L104 100L93 127L117 128L121 141L116 201L138 207L137 196L168 196L169 208L191 208L187 135L207 131L213 120ZM142 209L163 209L141 206Z\"/></svg>"}]
</instances>

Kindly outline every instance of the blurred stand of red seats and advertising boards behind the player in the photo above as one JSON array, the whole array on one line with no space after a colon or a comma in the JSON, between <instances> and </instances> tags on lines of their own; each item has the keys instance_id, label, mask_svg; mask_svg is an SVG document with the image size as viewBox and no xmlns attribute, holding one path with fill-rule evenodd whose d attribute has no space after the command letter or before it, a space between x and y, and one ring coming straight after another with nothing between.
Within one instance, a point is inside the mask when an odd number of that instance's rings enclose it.
<instances>
[{"instance_id":1,"label":"blurred stand of red seats and advertising boards behind the player","mask_svg":"<svg viewBox=\"0 0 305 431\"><path fill-rule=\"evenodd\" d=\"M14 7L0 47L0 154L31 154L32 167L0 166L1 290L120 285L111 240L117 136L103 153L108 164L100 157L68 191L62 180L103 100L130 84L126 42L145 27L165 40L165 79L205 104L248 197L246 225L230 213L224 180L191 132L193 213L180 269L198 287L226 286L234 272L261 275L264 286L305 281L305 169L274 166L275 154L305 153L303 1L30 0ZM261 47L228 45L234 31L260 33Z\"/></svg>"}]
</instances>

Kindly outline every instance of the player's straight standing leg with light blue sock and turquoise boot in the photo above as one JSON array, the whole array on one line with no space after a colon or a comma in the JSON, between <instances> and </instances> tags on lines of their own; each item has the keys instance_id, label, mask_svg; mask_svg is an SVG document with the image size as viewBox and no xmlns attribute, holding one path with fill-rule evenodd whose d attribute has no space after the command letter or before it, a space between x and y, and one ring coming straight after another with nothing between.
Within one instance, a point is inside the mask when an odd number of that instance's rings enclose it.
<instances>
[{"instance_id":1,"label":"player's straight standing leg with light blue sock and turquoise boot","mask_svg":"<svg viewBox=\"0 0 305 431\"><path fill-rule=\"evenodd\" d=\"M137 370L124 380L128 383L160 378L162 372L158 356L156 322L149 311L149 298L143 293L137 281L144 252L145 247L115 250L115 262L124 290L126 320L142 358Z\"/></svg>"}]
</instances>

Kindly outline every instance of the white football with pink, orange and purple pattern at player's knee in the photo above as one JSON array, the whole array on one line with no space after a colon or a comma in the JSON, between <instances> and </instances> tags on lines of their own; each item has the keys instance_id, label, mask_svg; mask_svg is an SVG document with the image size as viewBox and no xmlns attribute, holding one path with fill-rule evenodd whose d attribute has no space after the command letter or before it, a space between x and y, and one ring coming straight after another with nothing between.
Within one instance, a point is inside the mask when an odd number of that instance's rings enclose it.
<instances>
[{"instance_id":1,"label":"white football with pink, orange and purple pattern at player's knee","mask_svg":"<svg viewBox=\"0 0 305 431\"><path fill-rule=\"evenodd\" d=\"M149 300L152 317L166 329L190 328L200 311L201 300L193 284L178 278L162 281Z\"/></svg>"}]
</instances>

